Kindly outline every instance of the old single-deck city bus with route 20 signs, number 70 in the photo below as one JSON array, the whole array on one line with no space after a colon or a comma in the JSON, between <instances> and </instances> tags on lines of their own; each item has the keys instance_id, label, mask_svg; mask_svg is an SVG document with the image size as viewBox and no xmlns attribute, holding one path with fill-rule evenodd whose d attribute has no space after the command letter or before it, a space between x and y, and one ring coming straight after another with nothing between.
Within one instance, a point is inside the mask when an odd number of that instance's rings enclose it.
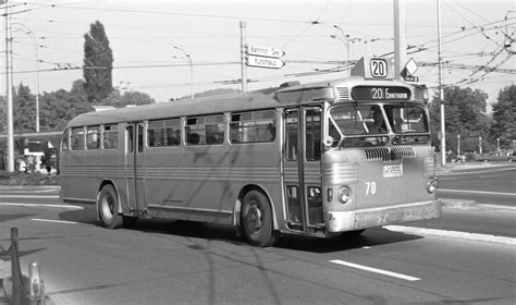
<instances>
[{"instance_id":1,"label":"old single-deck city bus with route 20 signs, number 70","mask_svg":"<svg viewBox=\"0 0 516 305\"><path fill-rule=\"evenodd\" d=\"M61 196L109 229L222 223L255 246L439 218L427 102L363 58L342 80L85 113L63 132Z\"/></svg>"}]
</instances>

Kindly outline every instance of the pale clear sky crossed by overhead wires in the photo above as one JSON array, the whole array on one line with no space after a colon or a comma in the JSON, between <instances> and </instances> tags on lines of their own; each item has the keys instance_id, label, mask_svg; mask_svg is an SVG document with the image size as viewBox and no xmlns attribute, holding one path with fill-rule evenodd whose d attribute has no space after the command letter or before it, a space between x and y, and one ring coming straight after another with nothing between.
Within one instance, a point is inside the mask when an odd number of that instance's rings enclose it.
<instances>
[{"instance_id":1,"label":"pale clear sky crossed by overhead wires","mask_svg":"<svg viewBox=\"0 0 516 305\"><path fill-rule=\"evenodd\" d=\"M435 88L437 0L403 3L410 47L407 58L428 64L420 65L416 75ZM249 90L290 81L345 77L348 70L342 68L347 58L391 58L394 50L393 0L34 0L9 4L14 13L13 84L23 83L36 93L38 83L41 94L69 90L83 78L84 35L96 21L103 24L113 51L113 86L147 93L158 102L189 96L192 90L239 89L235 81L242 77L241 21L246 23L248 45L284 52L281 69L247 68ZM499 91L515 82L512 52L516 46L509 44L515 24L515 1L441 0L443 85L481 89L489 95L488 102L494 102ZM4 46L0 49L0 69L5 71ZM481 66L494 70L479 71ZM0 83L1 91L4 84Z\"/></svg>"}]
</instances>

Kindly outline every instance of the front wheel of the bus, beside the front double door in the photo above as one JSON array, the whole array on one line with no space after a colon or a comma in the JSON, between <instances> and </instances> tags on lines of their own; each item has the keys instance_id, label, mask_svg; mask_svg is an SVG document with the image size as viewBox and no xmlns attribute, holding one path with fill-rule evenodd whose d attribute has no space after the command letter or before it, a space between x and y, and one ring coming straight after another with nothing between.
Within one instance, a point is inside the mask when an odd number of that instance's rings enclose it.
<instances>
[{"instance_id":1,"label":"front wheel of the bus, beside the front double door","mask_svg":"<svg viewBox=\"0 0 516 305\"><path fill-rule=\"evenodd\" d=\"M242 205L242 227L247 241L254 246L271 246L279 234L272 228L272 211L267 197L258 191L244 196Z\"/></svg>"}]
</instances>

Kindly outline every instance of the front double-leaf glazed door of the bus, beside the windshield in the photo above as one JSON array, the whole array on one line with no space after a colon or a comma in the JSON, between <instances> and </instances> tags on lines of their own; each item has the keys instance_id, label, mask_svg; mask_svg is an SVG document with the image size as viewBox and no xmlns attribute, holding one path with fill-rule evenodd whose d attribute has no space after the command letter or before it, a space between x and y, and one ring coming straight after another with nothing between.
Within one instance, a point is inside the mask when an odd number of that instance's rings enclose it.
<instances>
[{"instance_id":1,"label":"front double-leaf glazed door of the bus, beside the windshield","mask_svg":"<svg viewBox=\"0 0 516 305\"><path fill-rule=\"evenodd\" d=\"M293 230L323 225L321 171L321 108L286 110L284 192L287 222Z\"/></svg>"}]
</instances>

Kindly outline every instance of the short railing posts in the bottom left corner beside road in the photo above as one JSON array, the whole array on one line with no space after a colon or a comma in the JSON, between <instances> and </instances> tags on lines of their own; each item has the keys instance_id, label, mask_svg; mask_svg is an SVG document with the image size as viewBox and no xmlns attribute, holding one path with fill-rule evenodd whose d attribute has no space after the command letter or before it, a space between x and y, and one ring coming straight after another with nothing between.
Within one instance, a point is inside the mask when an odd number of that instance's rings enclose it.
<instances>
[{"instance_id":1,"label":"short railing posts in the bottom left corner beside road","mask_svg":"<svg viewBox=\"0 0 516 305\"><path fill-rule=\"evenodd\" d=\"M17 246L17 228L11 228L11 246L4 251L0 245L0 259L11 260L11 278L3 280L3 293L13 305L45 305L45 289L39 265L35 261L30 263L30 278L24 277L20 267Z\"/></svg>"}]
</instances>

